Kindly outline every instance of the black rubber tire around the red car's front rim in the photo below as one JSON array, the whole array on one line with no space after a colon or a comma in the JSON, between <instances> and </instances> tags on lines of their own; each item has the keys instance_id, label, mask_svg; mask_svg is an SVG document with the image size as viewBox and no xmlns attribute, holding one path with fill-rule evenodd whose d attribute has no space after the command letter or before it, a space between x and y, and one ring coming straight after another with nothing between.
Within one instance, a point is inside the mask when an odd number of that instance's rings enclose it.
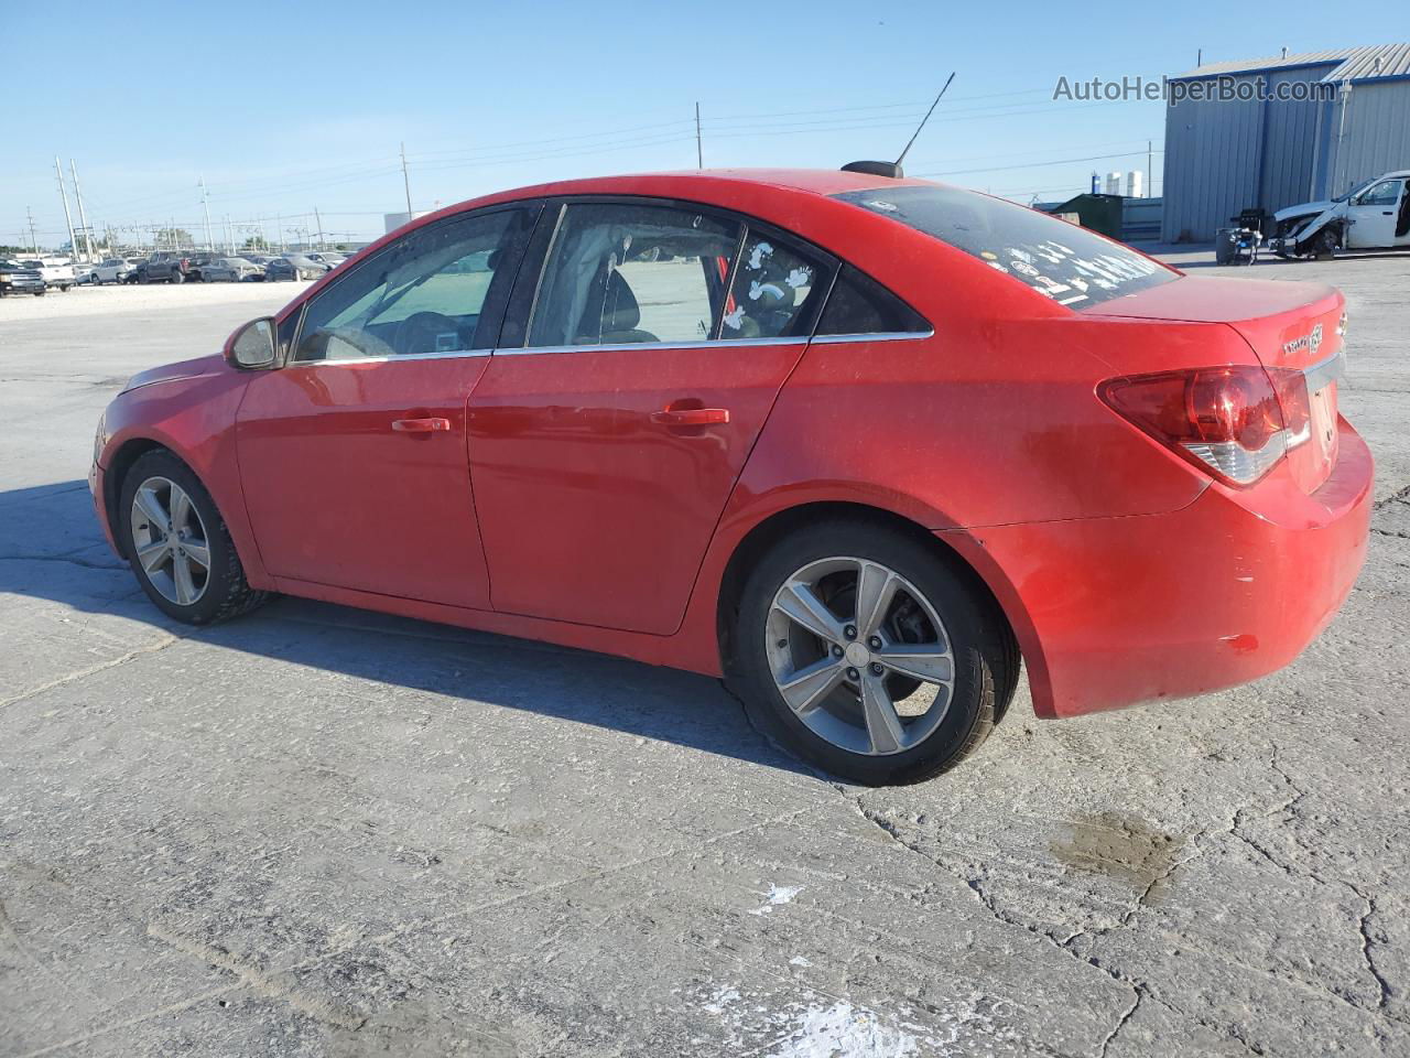
<instances>
[{"instance_id":1,"label":"black rubber tire around the red car's front rim","mask_svg":"<svg viewBox=\"0 0 1410 1058\"><path fill-rule=\"evenodd\" d=\"M137 547L133 543L133 497L137 490L149 478L162 477L173 481L190 497L192 505L200 515L202 525L206 526L206 545L210 549L210 570L204 591L190 605L179 605L157 590L142 564L137 560ZM200 482L200 478L182 463L176 456L165 449L147 453L134 463L118 488L118 506L116 512L116 528L127 563L141 584L147 597L157 604L171 618L188 625L213 625L220 621L230 621L243 614L248 614L261 605L269 595L257 591L245 581L244 566L235 553L235 545L230 539L226 519L220 515L210 492Z\"/></svg>"}]
</instances>

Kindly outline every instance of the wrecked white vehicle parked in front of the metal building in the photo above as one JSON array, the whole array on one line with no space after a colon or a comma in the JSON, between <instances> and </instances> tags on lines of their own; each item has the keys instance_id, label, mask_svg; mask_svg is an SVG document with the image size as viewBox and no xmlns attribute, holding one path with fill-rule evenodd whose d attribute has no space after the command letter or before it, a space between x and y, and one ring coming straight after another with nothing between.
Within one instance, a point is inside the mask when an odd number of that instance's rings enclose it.
<instances>
[{"instance_id":1,"label":"wrecked white vehicle parked in front of the metal building","mask_svg":"<svg viewBox=\"0 0 1410 1058\"><path fill-rule=\"evenodd\" d=\"M1273 214L1268 247L1279 257L1330 257L1338 250L1410 248L1410 169L1366 181L1331 202Z\"/></svg>"}]
</instances>

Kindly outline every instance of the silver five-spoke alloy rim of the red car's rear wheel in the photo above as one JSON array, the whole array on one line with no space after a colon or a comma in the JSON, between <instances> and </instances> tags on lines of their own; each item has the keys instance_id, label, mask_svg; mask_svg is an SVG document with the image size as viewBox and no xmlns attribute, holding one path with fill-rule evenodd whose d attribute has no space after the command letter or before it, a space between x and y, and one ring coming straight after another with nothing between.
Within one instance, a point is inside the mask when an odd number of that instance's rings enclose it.
<instances>
[{"instance_id":1,"label":"silver five-spoke alloy rim of the red car's rear wheel","mask_svg":"<svg viewBox=\"0 0 1410 1058\"><path fill-rule=\"evenodd\" d=\"M902 753L945 718L955 655L935 607L869 559L808 563L774 594L764 643L794 715L840 749Z\"/></svg>"}]
</instances>

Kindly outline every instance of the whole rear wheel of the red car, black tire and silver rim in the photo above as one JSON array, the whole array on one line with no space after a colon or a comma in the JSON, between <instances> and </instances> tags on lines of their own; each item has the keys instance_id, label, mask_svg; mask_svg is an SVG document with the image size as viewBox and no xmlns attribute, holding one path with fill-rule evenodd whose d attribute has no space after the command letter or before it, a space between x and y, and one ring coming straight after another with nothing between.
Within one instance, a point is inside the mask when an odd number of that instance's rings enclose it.
<instances>
[{"instance_id":1,"label":"whole rear wheel of the red car, black tire and silver rim","mask_svg":"<svg viewBox=\"0 0 1410 1058\"><path fill-rule=\"evenodd\" d=\"M1017 652L994 604L936 550L866 522L792 533L740 598L739 688L760 729L845 779L912 783L973 753Z\"/></svg>"}]
</instances>

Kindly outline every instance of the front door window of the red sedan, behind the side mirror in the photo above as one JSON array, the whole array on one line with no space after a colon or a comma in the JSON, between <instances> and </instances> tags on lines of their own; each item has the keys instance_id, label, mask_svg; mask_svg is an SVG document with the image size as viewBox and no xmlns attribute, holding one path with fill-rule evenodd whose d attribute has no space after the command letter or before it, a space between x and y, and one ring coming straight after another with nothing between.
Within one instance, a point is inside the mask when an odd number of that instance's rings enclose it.
<instances>
[{"instance_id":1,"label":"front door window of the red sedan, behind the side mirror","mask_svg":"<svg viewBox=\"0 0 1410 1058\"><path fill-rule=\"evenodd\" d=\"M481 326L491 285L517 254L527 210L417 229L329 288L305 313L296 361L491 348Z\"/></svg>"}]
</instances>

